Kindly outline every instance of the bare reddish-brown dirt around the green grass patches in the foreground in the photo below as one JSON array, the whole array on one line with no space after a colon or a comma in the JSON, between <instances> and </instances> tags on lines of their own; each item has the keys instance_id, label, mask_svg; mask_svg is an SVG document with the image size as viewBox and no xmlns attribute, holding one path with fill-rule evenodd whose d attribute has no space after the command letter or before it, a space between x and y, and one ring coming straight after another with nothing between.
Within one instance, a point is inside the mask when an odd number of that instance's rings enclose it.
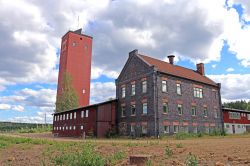
<instances>
[{"instance_id":1,"label":"bare reddish-brown dirt around the green grass patches in the foreground","mask_svg":"<svg viewBox=\"0 0 250 166\"><path fill-rule=\"evenodd\" d=\"M8 135L10 136L10 135ZM54 138L50 133L11 134L15 137L42 138L53 141L83 142L78 138ZM187 140L174 139L91 139L103 156L123 150L127 158L119 165L128 165L131 155L149 155L153 165L185 165L189 153L195 155L202 166L250 166L250 135L205 137ZM44 163L45 145L15 145L0 150L0 165L47 165ZM171 156L166 155L171 150ZM50 165L50 164L48 164Z\"/></svg>"}]
</instances>

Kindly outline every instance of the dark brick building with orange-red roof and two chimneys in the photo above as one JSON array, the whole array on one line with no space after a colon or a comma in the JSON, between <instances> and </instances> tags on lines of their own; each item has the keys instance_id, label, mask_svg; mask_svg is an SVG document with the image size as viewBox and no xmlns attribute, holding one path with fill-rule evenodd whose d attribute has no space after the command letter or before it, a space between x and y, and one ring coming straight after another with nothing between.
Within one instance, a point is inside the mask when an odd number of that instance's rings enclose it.
<instances>
[{"instance_id":1,"label":"dark brick building with orange-red roof and two chimneys","mask_svg":"<svg viewBox=\"0 0 250 166\"><path fill-rule=\"evenodd\" d=\"M220 84L205 76L204 65L190 70L137 50L116 80L118 128L122 135L158 136L223 129Z\"/></svg>"}]
</instances>

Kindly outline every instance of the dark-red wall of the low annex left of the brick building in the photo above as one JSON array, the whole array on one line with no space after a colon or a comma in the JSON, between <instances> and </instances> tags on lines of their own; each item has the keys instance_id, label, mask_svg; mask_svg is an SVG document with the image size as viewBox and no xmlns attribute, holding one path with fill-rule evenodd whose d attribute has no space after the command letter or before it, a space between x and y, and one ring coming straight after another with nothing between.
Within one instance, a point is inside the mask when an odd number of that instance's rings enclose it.
<instances>
[{"instance_id":1,"label":"dark-red wall of the low annex left of the brick building","mask_svg":"<svg viewBox=\"0 0 250 166\"><path fill-rule=\"evenodd\" d=\"M58 136L67 137L79 137L85 132L86 135L92 133L96 137L105 137L109 130L116 131L116 104L117 101L109 101L105 103L100 103L97 105L92 105L88 107L78 108L71 111L66 111L62 113L56 113L55 116L61 116L76 112L76 119L74 116L72 119L68 120L53 120L53 133L58 134ZM89 116L81 116L82 111L89 110ZM81 129L81 126L84 126ZM54 130L54 127L66 127L66 126L76 126L75 130Z\"/></svg>"}]
</instances>

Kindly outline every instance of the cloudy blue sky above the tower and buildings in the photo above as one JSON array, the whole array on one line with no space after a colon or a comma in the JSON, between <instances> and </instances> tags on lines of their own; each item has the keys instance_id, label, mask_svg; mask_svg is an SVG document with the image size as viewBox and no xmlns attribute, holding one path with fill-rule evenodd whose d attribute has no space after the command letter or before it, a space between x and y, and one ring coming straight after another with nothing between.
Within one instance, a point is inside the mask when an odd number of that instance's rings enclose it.
<instances>
[{"instance_id":1,"label":"cloudy blue sky above the tower and buildings","mask_svg":"<svg viewBox=\"0 0 250 166\"><path fill-rule=\"evenodd\" d=\"M115 96L114 79L140 53L222 83L222 100L250 99L249 0L0 0L0 121L51 122L61 37L93 36L91 103ZM79 21L78 21L79 18ZM112 61L110 61L112 59Z\"/></svg>"}]
</instances>

